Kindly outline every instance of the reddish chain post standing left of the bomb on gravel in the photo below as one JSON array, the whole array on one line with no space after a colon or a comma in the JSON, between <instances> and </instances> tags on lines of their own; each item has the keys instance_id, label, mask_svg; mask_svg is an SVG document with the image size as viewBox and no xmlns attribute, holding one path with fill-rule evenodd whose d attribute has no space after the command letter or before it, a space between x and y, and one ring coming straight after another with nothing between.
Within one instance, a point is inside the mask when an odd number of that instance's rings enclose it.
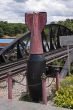
<instances>
[{"instance_id":1,"label":"reddish chain post standing left of the bomb on gravel","mask_svg":"<svg viewBox=\"0 0 73 110\"><path fill-rule=\"evenodd\" d=\"M11 72L7 74L8 79L8 99L12 99L12 78L11 78Z\"/></svg>"}]
</instances>

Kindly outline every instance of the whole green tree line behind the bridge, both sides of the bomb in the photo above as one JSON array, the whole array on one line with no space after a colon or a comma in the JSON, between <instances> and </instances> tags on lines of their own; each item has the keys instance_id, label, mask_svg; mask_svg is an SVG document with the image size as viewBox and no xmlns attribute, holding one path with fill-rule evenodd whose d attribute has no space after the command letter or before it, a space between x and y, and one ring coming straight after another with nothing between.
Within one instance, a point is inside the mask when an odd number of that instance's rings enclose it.
<instances>
[{"instance_id":1,"label":"whole green tree line behind the bridge, both sides of the bomb","mask_svg":"<svg viewBox=\"0 0 73 110\"><path fill-rule=\"evenodd\" d=\"M68 27L73 30L73 19L66 19L65 21L58 21L58 24ZM55 24L55 22L51 22ZM0 21L0 28L3 30L4 35L15 36L17 34L23 34L28 29L23 23L8 23L7 21ZM48 28L45 30L46 35L48 35Z\"/></svg>"}]
</instances>

